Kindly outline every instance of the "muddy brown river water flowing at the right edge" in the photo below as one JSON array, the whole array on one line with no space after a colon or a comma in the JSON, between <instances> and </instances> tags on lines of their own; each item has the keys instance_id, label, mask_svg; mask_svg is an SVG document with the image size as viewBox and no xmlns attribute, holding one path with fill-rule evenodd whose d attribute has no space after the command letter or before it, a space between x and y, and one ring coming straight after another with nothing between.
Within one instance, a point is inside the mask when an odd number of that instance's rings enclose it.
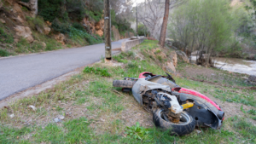
<instances>
[{"instance_id":1,"label":"muddy brown river water flowing at the right edge","mask_svg":"<svg viewBox=\"0 0 256 144\"><path fill-rule=\"evenodd\" d=\"M192 56L191 60L196 60L196 56ZM256 75L256 60L243 60L236 58L215 58L215 66L229 72L245 73L248 75Z\"/></svg>"}]
</instances>

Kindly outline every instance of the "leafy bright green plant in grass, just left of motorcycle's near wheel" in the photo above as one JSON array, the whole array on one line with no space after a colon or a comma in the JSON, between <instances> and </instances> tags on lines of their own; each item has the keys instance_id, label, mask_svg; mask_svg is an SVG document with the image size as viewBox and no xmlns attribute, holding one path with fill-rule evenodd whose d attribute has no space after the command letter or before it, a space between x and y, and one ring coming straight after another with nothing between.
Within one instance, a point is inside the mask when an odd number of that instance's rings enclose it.
<instances>
[{"instance_id":1,"label":"leafy bright green plant in grass, just left of motorcycle's near wheel","mask_svg":"<svg viewBox=\"0 0 256 144\"><path fill-rule=\"evenodd\" d=\"M140 124L137 122L136 125L126 127L125 134L134 139L145 140L149 136L149 130L141 127Z\"/></svg>"}]
</instances>

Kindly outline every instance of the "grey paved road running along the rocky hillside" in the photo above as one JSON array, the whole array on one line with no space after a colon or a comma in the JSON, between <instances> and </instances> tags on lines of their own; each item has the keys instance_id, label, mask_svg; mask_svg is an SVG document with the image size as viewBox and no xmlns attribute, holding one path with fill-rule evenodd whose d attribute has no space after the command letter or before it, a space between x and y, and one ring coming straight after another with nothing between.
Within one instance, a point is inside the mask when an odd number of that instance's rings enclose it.
<instances>
[{"instance_id":1,"label":"grey paved road running along the rocky hillside","mask_svg":"<svg viewBox=\"0 0 256 144\"><path fill-rule=\"evenodd\" d=\"M124 40L113 42L113 49L120 48ZM0 101L9 95L101 60L104 55L105 47L104 43L101 43L0 59Z\"/></svg>"}]
</instances>

